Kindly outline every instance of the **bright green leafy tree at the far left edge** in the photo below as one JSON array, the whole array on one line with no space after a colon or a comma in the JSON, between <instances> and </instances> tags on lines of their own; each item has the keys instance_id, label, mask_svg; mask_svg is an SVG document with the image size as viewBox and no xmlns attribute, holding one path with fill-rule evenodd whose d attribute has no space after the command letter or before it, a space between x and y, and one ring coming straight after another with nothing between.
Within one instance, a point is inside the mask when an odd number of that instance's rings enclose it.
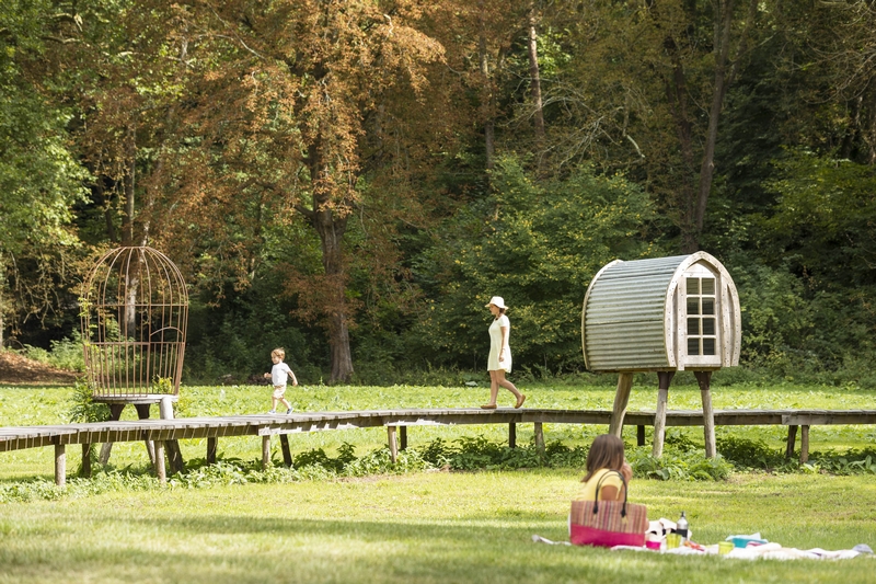
<instances>
[{"instance_id":1,"label":"bright green leafy tree at the far left edge","mask_svg":"<svg viewBox=\"0 0 876 584\"><path fill-rule=\"evenodd\" d=\"M51 8L13 0L0 9L0 347L5 318L56 308L50 288L64 268L49 259L77 243L70 206L85 196L87 173L66 138L71 112L46 88L57 75L47 44L69 16ZM32 280L20 277L23 257L35 265Z\"/></svg>"}]
</instances>

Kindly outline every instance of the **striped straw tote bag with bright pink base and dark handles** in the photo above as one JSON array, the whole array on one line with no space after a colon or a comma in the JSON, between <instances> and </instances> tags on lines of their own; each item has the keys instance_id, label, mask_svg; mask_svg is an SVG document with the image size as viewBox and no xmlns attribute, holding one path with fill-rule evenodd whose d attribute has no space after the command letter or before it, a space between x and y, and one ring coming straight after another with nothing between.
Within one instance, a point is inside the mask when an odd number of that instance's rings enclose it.
<instances>
[{"instance_id":1,"label":"striped straw tote bag with bright pink base and dark handles","mask_svg":"<svg viewBox=\"0 0 876 584\"><path fill-rule=\"evenodd\" d=\"M623 501L600 501L599 489L611 473L616 473L623 483ZM648 528L645 505L627 503L626 481L620 471L607 472L596 485L593 501L573 501L569 514L569 540L576 546L645 545Z\"/></svg>"}]
</instances>

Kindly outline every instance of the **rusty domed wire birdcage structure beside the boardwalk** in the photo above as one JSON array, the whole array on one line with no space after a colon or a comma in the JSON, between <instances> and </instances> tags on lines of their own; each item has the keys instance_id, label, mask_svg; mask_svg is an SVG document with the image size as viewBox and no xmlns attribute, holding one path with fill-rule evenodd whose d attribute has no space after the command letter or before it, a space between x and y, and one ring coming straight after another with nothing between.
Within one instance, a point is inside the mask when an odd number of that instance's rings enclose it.
<instances>
[{"instance_id":1,"label":"rusty domed wire birdcage structure beside the boardwalk","mask_svg":"<svg viewBox=\"0 0 876 584\"><path fill-rule=\"evenodd\" d=\"M180 394L188 291L166 255L149 247L105 253L83 283L80 308L95 401Z\"/></svg>"}]
</instances>

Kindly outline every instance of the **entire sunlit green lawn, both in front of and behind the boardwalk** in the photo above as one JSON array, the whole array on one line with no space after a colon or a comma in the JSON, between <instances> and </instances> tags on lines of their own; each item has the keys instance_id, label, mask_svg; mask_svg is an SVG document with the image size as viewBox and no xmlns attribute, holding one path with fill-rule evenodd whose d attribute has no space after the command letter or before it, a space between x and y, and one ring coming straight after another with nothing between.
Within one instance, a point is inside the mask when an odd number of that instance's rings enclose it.
<instances>
[{"instance_id":1,"label":"entire sunlit green lawn, both in front of and behind the boardwalk","mask_svg":"<svg viewBox=\"0 0 876 584\"><path fill-rule=\"evenodd\" d=\"M522 388L532 408L609 409L612 387ZM462 406L487 389L400 386L290 389L296 409ZM0 387L0 425L67 421L71 388ZM784 386L716 387L716 408L876 408L872 392ZM184 387L177 415L257 413L265 387ZM509 400L509 394L505 397ZM656 391L635 387L630 408L653 409ZM671 409L700 406L695 386L670 391ZM157 415L154 413L153 415ZM126 416L134 416L132 409ZM549 440L586 444L604 426L545 426ZM627 444L635 443L627 428ZM702 443L701 428L673 430ZM718 428L784 447L785 428ZM504 426L412 428L410 446L436 437L484 435L504 440ZM527 440L531 427L518 428ZM382 428L293 436L292 449L357 453L384 445ZM812 450L876 444L868 426L815 427ZM184 456L204 457L205 440L183 440ZM261 456L257 437L219 442L224 458ZM78 466L70 449L68 465ZM275 454L275 459L280 459ZM116 445L116 468L146 466L141 444ZM0 483L50 478L48 448L0 454ZM124 490L58 501L0 505L0 584L11 582L873 582L876 560L758 561L611 552L533 543L539 534L566 537L568 500L578 469L504 472L417 472L291 484ZM872 474L736 473L727 481L635 480L632 493L649 516L684 509L694 539L714 543L761 531L802 549L876 548L876 480Z\"/></svg>"}]
</instances>

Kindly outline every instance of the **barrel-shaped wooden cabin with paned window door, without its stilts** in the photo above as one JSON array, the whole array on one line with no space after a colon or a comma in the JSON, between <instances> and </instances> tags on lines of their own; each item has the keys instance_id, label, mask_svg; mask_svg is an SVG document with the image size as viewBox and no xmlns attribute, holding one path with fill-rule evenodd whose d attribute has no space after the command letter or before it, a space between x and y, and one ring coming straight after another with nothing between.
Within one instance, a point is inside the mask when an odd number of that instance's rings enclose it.
<instances>
[{"instance_id":1,"label":"barrel-shaped wooden cabin with paned window door, without its stilts","mask_svg":"<svg viewBox=\"0 0 876 584\"><path fill-rule=\"evenodd\" d=\"M714 370L739 363L739 296L706 252L606 265L581 312L591 371Z\"/></svg>"}]
</instances>

